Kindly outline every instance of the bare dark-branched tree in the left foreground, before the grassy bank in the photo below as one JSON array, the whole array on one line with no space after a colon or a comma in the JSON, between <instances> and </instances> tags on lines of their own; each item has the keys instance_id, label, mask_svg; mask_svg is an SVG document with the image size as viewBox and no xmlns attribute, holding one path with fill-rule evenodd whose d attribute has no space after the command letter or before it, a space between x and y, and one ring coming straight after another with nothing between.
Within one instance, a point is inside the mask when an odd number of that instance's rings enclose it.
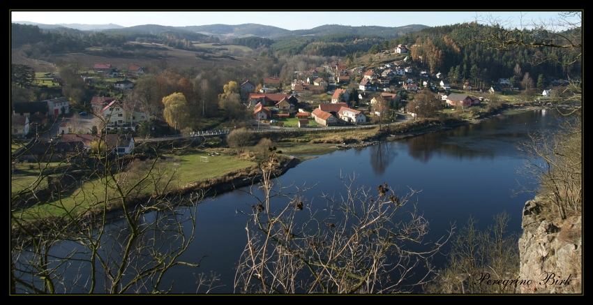
<instances>
[{"instance_id":1,"label":"bare dark-branched tree in the left foreground, before the grassy bank","mask_svg":"<svg viewBox=\"0 0 593 305\"><path fill-rule=\"evenodd\" d=\"M163 145L154 144L146 147L153 158L137 166L105 140L97 137L106 149L95 152L13 142L21 147L13 161L32 163L11 176L12 294L162 293L172 289L163 288L172 267L200 265L200 258L179 260L194 239L202 199L176 192L179 164L163 162Z\"/></svg>"}]
</instances>

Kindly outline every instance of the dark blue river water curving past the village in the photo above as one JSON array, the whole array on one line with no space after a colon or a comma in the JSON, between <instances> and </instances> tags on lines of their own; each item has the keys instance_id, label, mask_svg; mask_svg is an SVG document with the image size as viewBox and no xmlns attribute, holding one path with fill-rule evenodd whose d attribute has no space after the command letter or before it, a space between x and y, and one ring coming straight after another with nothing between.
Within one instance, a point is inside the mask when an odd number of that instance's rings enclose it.
<instances>
[{"instance_id":1,"label":"dark blue river water curving past the village","mask_svg":"<svg viewBox=\"0 0 593 305\"><path fill-rule=\"evenodd\" d=\"M523 159L516 144L530 131L554 128L557 119L541 110L503 114L481 124L461 126L364 149L335 151L301 163L279 178L283 186L311 186L304 193L308 207L326 208L322 193L340 195L345 188L338 179L354 175L356 183L376 190L383 183L396 193L409 188L421 190L414 200L430 222L426 240L438 239L456 223L459 230L467 218L479 219L480 229L493 224L493 216L506 211L511 216L509 231L521 230L521 211L529 194L513 197ZM218 195L197 207L196 238L181 260L197 262L199 268L176 267L167 278L174 281L172 292L195 293L197 274L216 273L223 287L211 293L232 293L239 255L246 245L248 217L237 210L250 211L256 201L248 188ZM257 191L255 191L257 193ZM260 193L261 194L261 193ZM281 206L282 200L272 202ZM446 253L446 251L444 251ZM434 261L444 264L444 256ZM200 290L200 292L204 292Z\"/></svg>"}]
</instances>

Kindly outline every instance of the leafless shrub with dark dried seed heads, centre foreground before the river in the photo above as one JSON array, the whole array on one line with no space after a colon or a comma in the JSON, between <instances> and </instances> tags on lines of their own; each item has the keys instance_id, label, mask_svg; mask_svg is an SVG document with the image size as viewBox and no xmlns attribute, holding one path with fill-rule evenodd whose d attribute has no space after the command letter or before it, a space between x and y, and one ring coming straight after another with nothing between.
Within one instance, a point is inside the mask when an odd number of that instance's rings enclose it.
<instances>
[{"instance_id":1,"label":"leafless shrub with dark dried seed heads, centre foreground before the river","mask_svg":"<svg viewBox=\"0 0 593 305\"><path fill-rule=\"evenodd\" d=\"M428 221L411 201L416 190L398 196L384 184L373 195L356 186L354 177L342 178L346 194L324 195L330 212L322 216L300 194L308 188L290 192L294 186L273 181L275 158L271 154L262 165L264 198L255 196L257 203L243 212L251 219L235 292L405 292L403 283L413 287L433 275L430 258L450 234L424 244ZM292 200L278 207L272 201L280 197ZM419 245L427 247L422 251L415 247ZM406 282L412 276L413 283Z\"/></svg>"}]
</instances>

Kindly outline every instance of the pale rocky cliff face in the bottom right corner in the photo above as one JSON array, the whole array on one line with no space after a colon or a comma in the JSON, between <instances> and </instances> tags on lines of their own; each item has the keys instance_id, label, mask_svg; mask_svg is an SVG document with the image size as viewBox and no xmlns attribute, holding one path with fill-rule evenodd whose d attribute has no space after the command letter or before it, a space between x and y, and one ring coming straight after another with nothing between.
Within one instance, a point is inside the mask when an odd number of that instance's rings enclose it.
<instances>
[{"instance_id":1,"label":"pale rocky cliff face in the bottom right corner","mask_svg":"<svg viewBox=\"0 0 593 305\"><path fill-rule=\"evenodd\" d=\"M583 293L581 215L560 219L540 198L525 203L519 239L521 293Z\"/></svg>"}]
</instances>

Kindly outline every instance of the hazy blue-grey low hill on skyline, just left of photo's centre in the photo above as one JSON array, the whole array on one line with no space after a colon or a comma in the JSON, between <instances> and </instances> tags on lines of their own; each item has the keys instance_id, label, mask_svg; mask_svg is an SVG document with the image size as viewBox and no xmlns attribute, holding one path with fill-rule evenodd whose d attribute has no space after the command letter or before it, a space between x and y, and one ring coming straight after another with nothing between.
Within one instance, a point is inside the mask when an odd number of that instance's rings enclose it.
<instances>
[{"instance_id":1,"label":"hazy blue-grey low hill on skyline, just left of photo's centre","mask_svg":"<svg viewBox=\"0 0 593 305\"><path fill-rule=\"evenodd\" d=\"M179 27L179 29L187 29L188 31L195 31L207 33L215 36L260 36L273 37L278 34L288 31L279 27L272 27L269 25L246 23L237 25L228 24L210 24L190 27Z\"/></svg>"}]
</instances>

